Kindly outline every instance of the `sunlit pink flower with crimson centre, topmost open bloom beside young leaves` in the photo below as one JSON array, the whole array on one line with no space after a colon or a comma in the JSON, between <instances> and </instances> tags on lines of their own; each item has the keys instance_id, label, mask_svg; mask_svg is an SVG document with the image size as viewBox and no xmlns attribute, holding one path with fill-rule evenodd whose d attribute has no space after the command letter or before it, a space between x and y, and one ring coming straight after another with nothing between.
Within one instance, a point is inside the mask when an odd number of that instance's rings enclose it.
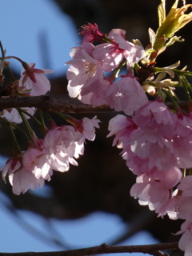
<instances>
[{"instance_id":1,"label":"sunlit pink flower with crimson centre, topmost open bloom beside young leaves","mask_svg":"<svg viewBox=\"0 0 192 256\"><path fill-rule=\"evenodd\" d=\"M103 43L95 46L93 51L94 58L102 61L103 70L110 72L114 70L126 58L127 70L134 62L138 62L145 57L145 50L142 46L135 46L133 43L125 40L125 30L111 30L107 38L111 43Z\"/></svg>"}]
</instances>

